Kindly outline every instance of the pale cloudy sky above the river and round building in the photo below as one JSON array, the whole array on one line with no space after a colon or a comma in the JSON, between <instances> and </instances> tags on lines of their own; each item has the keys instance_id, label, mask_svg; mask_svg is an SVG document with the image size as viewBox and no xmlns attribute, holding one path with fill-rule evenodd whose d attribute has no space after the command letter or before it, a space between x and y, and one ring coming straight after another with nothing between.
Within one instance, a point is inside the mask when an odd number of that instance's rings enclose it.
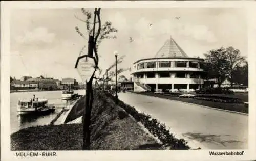
<instances>
[{"instance_id":1,"label":"pale cloudy sky above the river and round building","mask_svg":"<svg viewBox=\"0 0 256 161\"><path fill-rule=\"evenodd\" d=\"M83 54L87 52L88 35L86 25L75 15L85 19L80 9L13 9L11 76L20 79L45 74L81 82L74 66L83 45ZM118 30L116 39L105 39L99 46L103 72L114 63L114 51L118 57L125 56L118 68L129 68L139 59L154 57L170 36L189 57L204 58L204 53L221 46L233 46L246 57L248 54L245 13L238 8L102 8L101 21L111 21ZM76 33L76 26L87 39ZM120 75L131 77L129 71Z\"/></svg>"}]
</instances>

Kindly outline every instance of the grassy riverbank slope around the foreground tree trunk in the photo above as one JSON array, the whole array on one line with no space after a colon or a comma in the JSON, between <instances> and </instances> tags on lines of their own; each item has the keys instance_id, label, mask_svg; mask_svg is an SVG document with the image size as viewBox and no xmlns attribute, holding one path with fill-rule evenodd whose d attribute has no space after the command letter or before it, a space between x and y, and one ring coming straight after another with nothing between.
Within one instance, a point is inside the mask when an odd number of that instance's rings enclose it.
<instances>
[{"instance_id":1,"label":"grassy riverbank slope around the foreground tree trunk","mask_svg":"<svg viewBox=\"0 0 256 161\"><path fill-rule=\"evenodd\" d=\"M95 93L95 92L94 92ZM82 116L84 97L67 119ZM95 93L91 118L91 150L163 149L123 109ZM81 150L82 124L47 125L22 129L11 135L11 150Z\"/></svg>"}]
</instances>

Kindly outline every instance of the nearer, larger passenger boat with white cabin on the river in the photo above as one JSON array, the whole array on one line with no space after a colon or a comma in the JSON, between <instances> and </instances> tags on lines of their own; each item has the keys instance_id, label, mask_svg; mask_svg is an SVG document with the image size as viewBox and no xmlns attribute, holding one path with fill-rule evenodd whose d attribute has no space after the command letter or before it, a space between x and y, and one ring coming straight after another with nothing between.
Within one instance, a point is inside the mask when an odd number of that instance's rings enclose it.
<instances>
[{"instance_id":1,"label":"nearer, larger passenger boat with white cabin on the river","mask_svg":"<svg viewBox=\"0 0 256 161\"><path fill-rule=\"evenodd\" d=\"M45 98L35 98L29 100L18 100L17 112L19 115L25 114L49 114L55 112L55 107L48 105Z\"/></svg>"}]
</instances>

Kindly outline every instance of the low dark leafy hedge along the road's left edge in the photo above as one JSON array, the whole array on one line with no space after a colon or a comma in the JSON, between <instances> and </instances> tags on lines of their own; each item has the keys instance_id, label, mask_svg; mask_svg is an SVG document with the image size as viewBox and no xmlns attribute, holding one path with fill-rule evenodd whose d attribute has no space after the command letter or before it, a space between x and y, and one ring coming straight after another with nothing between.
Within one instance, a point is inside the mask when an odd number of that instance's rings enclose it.
<instances>
[{"instance_id":1,"label":"low dark leafy hedge along the road's left edge","mask_svg":"<svg viewBox=\"0 0 256 161\"><path fill-rule=\"evenodd\" d=\"M109 93L106 93L112 99L115 97ZM176 139L173 134L167 130L165 124L160 123L157 119L151 118L150 115L139 113L134 107L125 104L118 100L118 105L123 108L127 113L132 115L138 122L141 122L155 137L157 137L163 146L167 149L179 149L185 150L190 149L187 142L184 139Z\"/></svg>"}]
</instances>

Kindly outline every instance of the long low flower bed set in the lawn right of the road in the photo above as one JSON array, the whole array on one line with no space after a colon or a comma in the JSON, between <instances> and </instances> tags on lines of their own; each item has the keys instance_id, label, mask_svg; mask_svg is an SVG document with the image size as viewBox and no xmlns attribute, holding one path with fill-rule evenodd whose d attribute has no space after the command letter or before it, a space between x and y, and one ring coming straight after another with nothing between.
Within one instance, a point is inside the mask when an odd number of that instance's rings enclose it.
<instances>
[{"instance_id":1,"label":"long low flower bed set in the lawn right of the road","mask_svg":"<svg viewBox=\"0 0 256 161\"><path fill-rule=\"evenodd\" d=\"M243 103L243 101L239 98L215 96L215 95L196 95L194 99L223 102L223 103Z\"/></svg>"}]
</instances>

